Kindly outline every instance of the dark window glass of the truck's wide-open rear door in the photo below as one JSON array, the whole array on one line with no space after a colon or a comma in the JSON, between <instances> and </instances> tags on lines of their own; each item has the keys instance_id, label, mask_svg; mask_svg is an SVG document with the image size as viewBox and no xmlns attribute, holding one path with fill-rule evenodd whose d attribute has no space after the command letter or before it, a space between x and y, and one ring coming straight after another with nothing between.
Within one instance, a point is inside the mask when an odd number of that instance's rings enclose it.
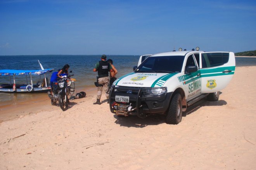
<instances>
[{"instance_id":1,"label":"dark window glass of the truck's wide-open rear door","mask_svg":"<svg viewBox=\"0 0 256 170\"><path fill-rule=\"evenodd\" d=\"M203 53L202 68L220 66L228 62L229 53Z\"/></svg>"}]
</instances>

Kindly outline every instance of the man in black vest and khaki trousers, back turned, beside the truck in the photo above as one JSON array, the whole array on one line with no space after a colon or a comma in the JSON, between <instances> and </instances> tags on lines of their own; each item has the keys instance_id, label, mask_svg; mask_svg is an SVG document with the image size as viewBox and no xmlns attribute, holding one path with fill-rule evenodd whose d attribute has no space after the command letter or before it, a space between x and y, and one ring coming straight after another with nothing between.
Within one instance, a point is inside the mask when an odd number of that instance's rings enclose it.
<instances>
[{"instance_id":1,"label":"man in black vest and khaki trousers, back turned, beside the truck","mask_svg":"<svg viewBox=\"0 0 256 170\"><path fill-rule=\"evenodd\" d=\"M106 61L107 56L103 54L101 56L101 60L96 63L95 68L93 68L93 71L98 71L98 92L97 92L97 101L93 104L100 104L100 97L102 94L102 90L104 88L104 91L106 93L107 99L109 99L109 71L112 72L113 69L111 65ZM107 100L107 103L109 103L109 100Z\"/></svg>"}]
</instances>

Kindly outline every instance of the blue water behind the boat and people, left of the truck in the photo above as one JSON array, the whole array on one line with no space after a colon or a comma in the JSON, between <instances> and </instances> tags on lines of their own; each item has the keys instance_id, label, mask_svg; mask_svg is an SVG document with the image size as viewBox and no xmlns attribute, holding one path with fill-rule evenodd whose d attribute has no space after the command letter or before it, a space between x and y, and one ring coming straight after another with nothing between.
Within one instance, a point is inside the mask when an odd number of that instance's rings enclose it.
<instances>
[{"instance_id":1,"label":"blue water behind the boat and people, left of the truck","mask_svg":"<svg viewBox=\"0 0 256 170\"><path fill-rule=\"evenodd\" d=\"M72 70L73 78L76 78L76 85L78 87L86 87L94 85L97 72L93 72L93 68L97 61L100 61L101 55L40 55L40 56L0 56L0 70L13 69L13 70L36 70L40 69L37 59L44 68L54 68L54 71L61 69L65 64L70 66L69 71ZM133 71L133 66L137 65L140 56L131 55L108 55L107 59L113 60L113 65L118 70L117 76L125 75ZM26 62L24 62L26 61ZM50 78L50 74L47 75ZM23 80L25 76L22 77ZM16 76L16 80L19 80ZM35 78L34 78L35 77ZM0 77L0 82L9 83L9 77ZM4 80L2 80L2 78ZM43 75L42 75L43 78ZM41 79L42 79L41 78ZM32 77L33 82L39 80L38 76ZM50 79L49 79L50 80ZM17 81L16 81L17 82ZM25 81L26 82L26 81Z\"/></svg>"}]
</instances>

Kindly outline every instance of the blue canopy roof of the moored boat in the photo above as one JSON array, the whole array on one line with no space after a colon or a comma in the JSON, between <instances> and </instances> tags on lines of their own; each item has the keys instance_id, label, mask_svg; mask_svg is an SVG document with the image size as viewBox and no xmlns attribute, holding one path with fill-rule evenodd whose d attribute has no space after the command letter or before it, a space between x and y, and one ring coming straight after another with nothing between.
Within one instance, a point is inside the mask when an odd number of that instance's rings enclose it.
<instances>
[{"instance_id":1,"label":"blue canopy roof of the moored boat","mask_svg":"<svg viewBox=\"0 0 256 170\"><path fill-rule=\"evenodd\" d=\"M42 75L51 72L54 68L45 70L0 70L0 76L7 75Z\"/></svg>"}]
</instances>

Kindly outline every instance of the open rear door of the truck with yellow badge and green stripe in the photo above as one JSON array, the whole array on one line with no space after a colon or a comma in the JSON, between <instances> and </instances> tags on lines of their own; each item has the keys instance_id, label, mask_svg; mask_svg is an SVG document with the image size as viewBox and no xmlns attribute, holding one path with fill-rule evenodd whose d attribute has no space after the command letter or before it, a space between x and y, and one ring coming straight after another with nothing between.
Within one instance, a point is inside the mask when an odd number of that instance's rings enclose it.
<instances>
[{"instance_id":1,"label":"open rear door of the truck with yellow badge and green stripe","mask_svg":"<svg viewBox=\"0 0 256 170\"><path fill-rule=\"evenodd\" d=\"M232 52L200 53L202 93L218 92L225 88L235 73L235 54Z\"/></svg>"}]
</instances>

